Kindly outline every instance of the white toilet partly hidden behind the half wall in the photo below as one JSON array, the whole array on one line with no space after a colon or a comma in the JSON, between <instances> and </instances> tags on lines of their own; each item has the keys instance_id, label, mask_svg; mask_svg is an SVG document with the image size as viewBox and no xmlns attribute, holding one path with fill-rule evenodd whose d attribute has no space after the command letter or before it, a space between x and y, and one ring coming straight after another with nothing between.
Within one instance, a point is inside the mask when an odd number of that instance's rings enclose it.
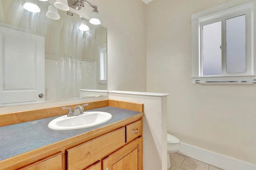
<instances>
[{"instance_id":1,"label":"white toilet partly hidden behind the half wall","mask_svg":"<svg viewBox=\"0 0 256 170\"><path fill-rule=\"evenodd\" d=\"M170 168L170 155L169 153L178 152L180 150L180 140L175 136L167 133L167 169Z\"/></svg>"}]
</instances>

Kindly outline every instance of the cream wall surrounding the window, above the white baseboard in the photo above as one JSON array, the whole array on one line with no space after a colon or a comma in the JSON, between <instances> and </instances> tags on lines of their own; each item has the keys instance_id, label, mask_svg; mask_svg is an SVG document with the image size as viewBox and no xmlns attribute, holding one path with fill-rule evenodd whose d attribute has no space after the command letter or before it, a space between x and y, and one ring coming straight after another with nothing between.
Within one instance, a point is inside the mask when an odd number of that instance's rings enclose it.
<instances>
[{"instance_id":1,"label":"cream wall surrounding the window, above the white baseboard","mask_svg":"<svg viewBox=\"0 0 256 170\"><path fill-rule=\"evenodd\" d=\"M256 164L256 86L191 83L191 14L228 1L147 5L147 91L170 93L168 132L182 143Z\"/></svg>"}]
</instances>

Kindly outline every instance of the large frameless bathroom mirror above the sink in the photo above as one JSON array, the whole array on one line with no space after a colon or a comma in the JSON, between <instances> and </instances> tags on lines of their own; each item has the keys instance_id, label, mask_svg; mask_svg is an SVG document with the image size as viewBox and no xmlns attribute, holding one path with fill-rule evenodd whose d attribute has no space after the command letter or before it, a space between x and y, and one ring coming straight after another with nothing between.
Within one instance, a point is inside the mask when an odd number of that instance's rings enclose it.
<instances>
[{"instance_id":1,"label":"large frameless bathroom mirror above the sink","mask_svg":"<svg viewBox=\"0 0 256 170\"><path fill-rule=\"evenodd\" d=\"M70 11L52 20L49 2L37 1L39 13L25 2L0 0L0 107L107 95L107 29Z\"/></svg>"}]
</instances>

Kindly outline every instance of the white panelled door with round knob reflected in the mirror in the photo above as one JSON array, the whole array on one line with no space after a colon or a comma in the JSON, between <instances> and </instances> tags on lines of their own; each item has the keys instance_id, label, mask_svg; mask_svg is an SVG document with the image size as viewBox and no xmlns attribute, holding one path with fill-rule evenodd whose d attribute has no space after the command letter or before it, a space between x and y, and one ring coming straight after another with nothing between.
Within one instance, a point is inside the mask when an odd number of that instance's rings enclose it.
<instances>
[{"instance_id":1,"label":"white panelled door with round knob reflected in the mirror","mask_svg":"<svg viewBox=\"0 0 256 170\"><path fill-rule=\"evenodd\" d=\"M0 107L44 102L39 94L44 95L44 37L0 27Z\"/></svg>"}]
</instances>

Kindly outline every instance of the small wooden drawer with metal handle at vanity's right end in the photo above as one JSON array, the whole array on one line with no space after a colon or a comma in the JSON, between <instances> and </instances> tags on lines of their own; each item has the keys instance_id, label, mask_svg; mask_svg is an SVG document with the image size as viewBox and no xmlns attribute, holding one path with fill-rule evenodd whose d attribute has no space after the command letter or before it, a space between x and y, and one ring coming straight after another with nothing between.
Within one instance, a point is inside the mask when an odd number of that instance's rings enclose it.
<instances>
[{"instance_id":1,"label":"small wooden drawer with metal handle at vanity's right end","mask_svg":"<svg viewBox=\"0 0 256 170\"><path fill-rule=\"evenodd\" d=\"M125 142L128 143L133 139L135 139L136 137L139 137L142 135L142 120L138 120L129 125L126 125L125 128L126 128Z\"/></svg>"}]
</instances>

